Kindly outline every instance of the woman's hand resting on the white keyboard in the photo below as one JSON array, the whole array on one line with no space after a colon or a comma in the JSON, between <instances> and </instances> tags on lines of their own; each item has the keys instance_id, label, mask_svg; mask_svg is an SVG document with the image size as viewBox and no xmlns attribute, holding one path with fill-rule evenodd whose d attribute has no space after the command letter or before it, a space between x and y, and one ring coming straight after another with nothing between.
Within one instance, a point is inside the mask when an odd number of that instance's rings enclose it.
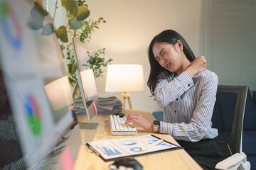
<instances>
[{"instance_id":1,"label":"woman's hand resting on the white keyboard","mask_svg":"<svg viewBox=\"0 0 256 170\"><path fill-rule=\"evenodd\" d=\"M144 130L153 130L153 123L146 120L141 113L129 113L125 124L127 123L138 123Z\"/></svg>"}]
</instances>

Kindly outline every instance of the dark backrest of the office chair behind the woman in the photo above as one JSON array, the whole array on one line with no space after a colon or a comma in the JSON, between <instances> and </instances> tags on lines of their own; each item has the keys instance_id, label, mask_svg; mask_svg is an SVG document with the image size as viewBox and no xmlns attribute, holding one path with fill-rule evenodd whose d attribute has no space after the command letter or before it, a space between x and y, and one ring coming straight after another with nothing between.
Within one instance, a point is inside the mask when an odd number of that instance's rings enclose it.
<instances>
[{"instance_id":1,"label":"dark backrest of the office chair behind the woman","mask_svg":"<svg viewBox=\"0 0 256 170\"><path fill-rule=\"evenodd\" d=\"M218 129L217 143L224 157L242 152L247 89L247 86L218 85L212 123Z\"/></svg>"}]
</instances>

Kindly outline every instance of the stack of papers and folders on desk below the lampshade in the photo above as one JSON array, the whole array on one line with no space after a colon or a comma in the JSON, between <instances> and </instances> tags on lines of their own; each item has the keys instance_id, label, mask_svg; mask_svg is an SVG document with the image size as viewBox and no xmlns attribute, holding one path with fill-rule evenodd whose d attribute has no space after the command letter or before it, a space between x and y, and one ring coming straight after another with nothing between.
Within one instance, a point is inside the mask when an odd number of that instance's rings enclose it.
<instances>
[{"instance_id":1,"label":"stack of papers and folders on desk below the lampshade","mask_svg":"<svg viewBox=\"0 0 256 170\"><path fill-rule=\"evenodd\" d=\"M124 113L122 109L122 101L119 96L114 94L98 94L99 107L97 114L112 115L114 113Z\"/></svg>"}]
</instances>

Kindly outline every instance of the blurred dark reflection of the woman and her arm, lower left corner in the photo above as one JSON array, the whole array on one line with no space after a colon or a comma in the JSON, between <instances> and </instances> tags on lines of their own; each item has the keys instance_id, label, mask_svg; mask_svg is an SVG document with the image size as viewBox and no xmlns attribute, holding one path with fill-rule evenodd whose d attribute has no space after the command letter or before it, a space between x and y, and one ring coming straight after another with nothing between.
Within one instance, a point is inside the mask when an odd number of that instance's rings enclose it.
<instances>
[{"instance_id":1,"label":"blurred dark reflection of the woman and her arm, lower left corner","mask_svg":"<svg viewBox=\"0 0 256 170\"><path fill-rule=\"evenodd\" d=\"M18 130L18 119L11 111L8 91L4 84L4 75L8 74L0 69L0 170L28 169L36 164L53 150L55 141L63 139L59 132L51 132L44 137L41 147L34 153L24 154L21 149Z\"/></svg>"}]
</instances>

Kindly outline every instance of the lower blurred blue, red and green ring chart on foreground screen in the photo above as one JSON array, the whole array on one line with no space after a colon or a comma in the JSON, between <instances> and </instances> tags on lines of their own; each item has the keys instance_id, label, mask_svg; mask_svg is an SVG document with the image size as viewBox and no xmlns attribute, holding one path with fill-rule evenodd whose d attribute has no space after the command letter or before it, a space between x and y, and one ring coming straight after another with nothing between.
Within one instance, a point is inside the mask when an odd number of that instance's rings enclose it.
<instances>
[{"instance_id":1,"label":"lower blurred blue, red and green ring chart on foreground screen","mask_svg":"<svg viewBox=\"0 0 256 170\"><path fill-rule=\"evenodd\" d=\"M26 96L26 113L29 127L35 136L41 135L41 111L33 94Z\"/></svg>"}]
</instances>

